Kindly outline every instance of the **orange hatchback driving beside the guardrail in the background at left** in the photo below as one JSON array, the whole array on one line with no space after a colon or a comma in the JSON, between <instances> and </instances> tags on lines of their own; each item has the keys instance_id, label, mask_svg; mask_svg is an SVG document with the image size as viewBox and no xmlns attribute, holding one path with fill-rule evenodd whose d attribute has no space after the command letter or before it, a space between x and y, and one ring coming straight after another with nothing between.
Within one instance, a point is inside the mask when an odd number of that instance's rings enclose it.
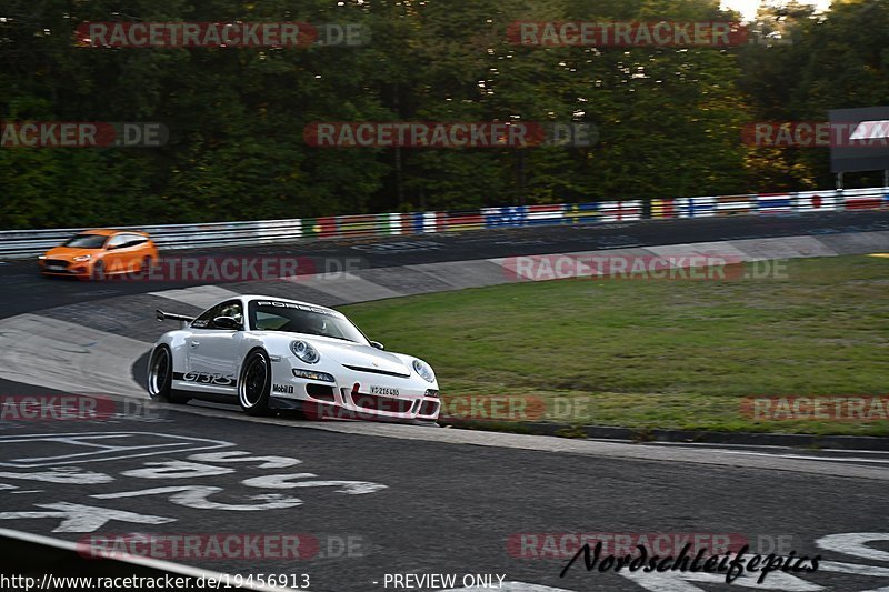
<instances>
[{"instance_id":1,"label":"orange hatchback driving beside the guardrail in the background at left","mask_svg":"<svg viewBox=\"0 0 889 592\"><path fill-rule=\"evenodd\" d=\"M158 248L136 230L84 230L38 257L48 275L102 280L106 275L147 272L158 260Z\"/></svg>"}]
</instances>

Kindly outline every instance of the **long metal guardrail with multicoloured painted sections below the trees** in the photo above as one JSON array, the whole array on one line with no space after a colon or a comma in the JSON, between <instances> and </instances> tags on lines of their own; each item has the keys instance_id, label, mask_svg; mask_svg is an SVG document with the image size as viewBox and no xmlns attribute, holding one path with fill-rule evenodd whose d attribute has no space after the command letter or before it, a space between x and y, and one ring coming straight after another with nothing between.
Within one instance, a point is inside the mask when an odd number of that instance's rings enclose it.
<instances>
[{"instance_id":1,"label":"long metal guardrail with multicoloured painted sections below the trees","mask_svg":"<svg viewBox=\"0 0 889 592\"><path fill-rule=\"evenodd\" d=\"M595 224L641 219L766 215L836 210L887 210L889 188L750 195L505 205L451 212L377 213L293 220L114 227L144 230L162 250L267 244L299 240L426 234L545 224ZM0 231L0 258L34 257L83 229Z\"/></svg>"}]
</instances>

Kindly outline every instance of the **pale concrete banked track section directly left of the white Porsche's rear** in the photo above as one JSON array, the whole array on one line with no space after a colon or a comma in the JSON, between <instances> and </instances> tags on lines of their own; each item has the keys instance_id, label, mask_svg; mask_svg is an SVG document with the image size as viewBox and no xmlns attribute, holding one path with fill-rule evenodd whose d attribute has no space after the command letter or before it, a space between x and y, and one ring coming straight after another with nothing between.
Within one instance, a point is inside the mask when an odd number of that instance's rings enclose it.
<instances>
[{"instance_id":1,"label":"pale concrete banked track section directly left of the white Porsche's rear","mask_svg":"<svg viewBox=\"0 0 889 592\"><path fill-rule=\"evenodd\" d=\"M130 367L149 348L81 324L20 314L0 320L0 378L78 394L148 398Z\"/></svg>"}]
</instances>

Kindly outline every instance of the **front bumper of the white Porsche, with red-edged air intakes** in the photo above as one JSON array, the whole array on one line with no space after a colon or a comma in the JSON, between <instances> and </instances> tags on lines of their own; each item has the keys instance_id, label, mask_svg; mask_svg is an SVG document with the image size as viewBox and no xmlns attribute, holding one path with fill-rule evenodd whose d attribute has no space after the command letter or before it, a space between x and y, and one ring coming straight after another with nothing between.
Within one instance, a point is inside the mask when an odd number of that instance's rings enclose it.
<instances>
[{"instance_id":1,"label":"front bumper of the white Porsche, with red-edged air intakes","mask_svg":"<svg viewBox=\"0 0 889 592\"><path fill-rule=\"evenodd\" d=\"M272 363L270 403L299 409L307 418L316 420L438 420L441 402L434 383L418 377L370 375L348 369L328 373L334 382L297 378L286 361Z\"/></svg>"}]
</instances>

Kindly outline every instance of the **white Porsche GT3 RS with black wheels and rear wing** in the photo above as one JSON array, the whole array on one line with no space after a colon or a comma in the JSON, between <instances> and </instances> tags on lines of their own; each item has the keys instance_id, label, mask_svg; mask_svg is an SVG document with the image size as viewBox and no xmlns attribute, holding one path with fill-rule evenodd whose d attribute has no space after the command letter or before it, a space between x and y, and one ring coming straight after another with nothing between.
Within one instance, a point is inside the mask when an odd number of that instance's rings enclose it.
<instances>
[{"instance_id":1,"label":"white Porsche GT3 RS with black wheels and rear wing","mask_svg":"<svg viewBox=\"0 0 889 592\"><path fill-rule=\"evenodd\" d=\"M251 414L293 409L312 419L438 419L438 382L417 358L383 351L340 312L296 300L242 295L181 322L149 355L152 399L236 400Z\"/></svg>"}]
</instances>

